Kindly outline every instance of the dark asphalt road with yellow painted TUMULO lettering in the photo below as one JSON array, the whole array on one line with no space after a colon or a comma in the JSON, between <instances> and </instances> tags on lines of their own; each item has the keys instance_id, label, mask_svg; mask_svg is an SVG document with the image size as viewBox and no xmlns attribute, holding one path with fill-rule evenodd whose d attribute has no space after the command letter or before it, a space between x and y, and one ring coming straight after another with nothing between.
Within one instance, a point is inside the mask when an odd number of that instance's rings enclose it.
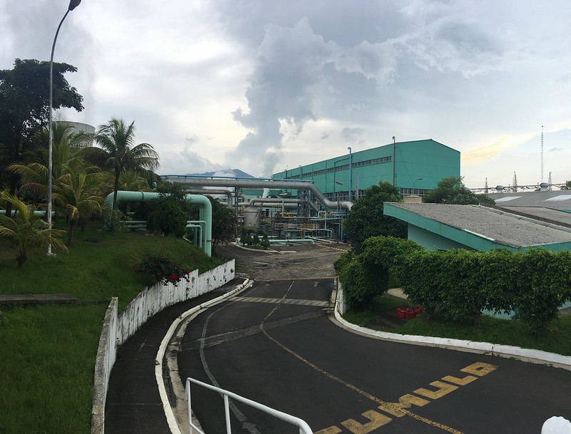
<instances>
[{"instance_id":1,"label":"dark asphalt road with yellow painted TUMULO lettering","mask_svg":"<svg viewBox=\"0 0 571 434\"><path fill-rule=\"evenodd\" d=\"M318 274L318 273L316 273ZM521 361L360 336L328 316L333 279L256 281L191 321L181 378L213 383L305 420L320 434L537 433L571 419L571 373ZM194 386L207 434L223 401ZM241 403L233 433L297 433Z\"/></svg>"}]
</instances>

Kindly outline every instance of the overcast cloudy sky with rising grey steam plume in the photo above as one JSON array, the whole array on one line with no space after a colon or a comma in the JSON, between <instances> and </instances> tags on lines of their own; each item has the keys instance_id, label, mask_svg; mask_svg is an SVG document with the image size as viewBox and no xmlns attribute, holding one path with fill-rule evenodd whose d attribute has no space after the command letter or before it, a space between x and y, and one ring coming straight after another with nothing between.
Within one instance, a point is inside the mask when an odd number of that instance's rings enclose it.
<instances>
[{"instance_id":1,"label":"overcast cloudy sky with rising grey steam plume","mask_svg":"<svg viewBox=\"0 0 571 434\"><path fill-rule=\"evenodd\" d=\"M49 60L68 0L0 2L0 69ZM161 174L273 172L397 141L468 187L571 179L571 1L83 0L54 61L98 127L135 120Z\"/></svg>"}]
</instances>

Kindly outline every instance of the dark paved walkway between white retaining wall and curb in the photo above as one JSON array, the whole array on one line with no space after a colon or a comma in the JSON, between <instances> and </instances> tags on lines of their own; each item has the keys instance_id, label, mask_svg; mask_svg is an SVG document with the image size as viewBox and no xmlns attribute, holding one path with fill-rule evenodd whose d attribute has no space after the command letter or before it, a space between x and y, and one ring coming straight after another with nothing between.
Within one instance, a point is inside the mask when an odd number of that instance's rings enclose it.
<instances>
[{"instance_id":1,"label":"dark paved walkway between white retaining wall and curb","mask_svg":"<svg viewBox=\"0 0 571 434\"><path fill-rule=\"evenodd\" d=\"M166 332L188 309L231 291L234 279L208 294L159 312L118 348L105 405L106 434L170 433L155 378L155 359Z\"/></svg>"}]
</instances>

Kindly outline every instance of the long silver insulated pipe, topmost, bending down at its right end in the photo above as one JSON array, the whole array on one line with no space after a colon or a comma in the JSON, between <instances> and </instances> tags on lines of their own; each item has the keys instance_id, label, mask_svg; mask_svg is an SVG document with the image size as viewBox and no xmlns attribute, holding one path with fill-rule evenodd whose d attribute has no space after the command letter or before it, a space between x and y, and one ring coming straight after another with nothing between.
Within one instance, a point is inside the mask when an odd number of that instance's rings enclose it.
<instances>
[{"instance_id":1,"label":"long silver insulated pipe, topmost, bending down at its right end","mask_svg":"<svg viewBox=\"0 0 571 434\"><path fill-rule=\"evenodd\" d=\"M178 182L178 184L186 186L206 186L206 187L238 187L238 188L287 188L287 189L298 189L298 190L310 190L313 195L320 200L320 202L328 208L337 209L338 207L343 210L350 210L353 206L353 202L346 201L332 201L328 200L327 197L323 195L322 192L318 190L317 187L312 182L307 181L290 181L290 180L236 180L236 179L209 179L209 178L191 178L175 177L173 175L163 178L165 181Z\"/></svg>"}]
</instances>

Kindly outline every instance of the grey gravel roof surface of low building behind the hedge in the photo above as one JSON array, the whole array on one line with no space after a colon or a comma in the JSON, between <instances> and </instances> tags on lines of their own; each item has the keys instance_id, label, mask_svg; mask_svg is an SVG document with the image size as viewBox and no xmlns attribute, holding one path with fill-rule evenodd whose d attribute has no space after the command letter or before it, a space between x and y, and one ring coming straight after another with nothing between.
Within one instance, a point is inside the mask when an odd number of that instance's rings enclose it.
<instances>
[{"instance_id":1,"label":"grey gravel roof surface of low building behind the hedge","mask_svg":"<svg viewBox=\"0 0 571 434\"><path fill-rule=\"evenodd\" d=\"M498 212L480 205L433 203L390 205L513 247L571 242L570 229L507 212Z\"/></svg>"}]
</instances>

